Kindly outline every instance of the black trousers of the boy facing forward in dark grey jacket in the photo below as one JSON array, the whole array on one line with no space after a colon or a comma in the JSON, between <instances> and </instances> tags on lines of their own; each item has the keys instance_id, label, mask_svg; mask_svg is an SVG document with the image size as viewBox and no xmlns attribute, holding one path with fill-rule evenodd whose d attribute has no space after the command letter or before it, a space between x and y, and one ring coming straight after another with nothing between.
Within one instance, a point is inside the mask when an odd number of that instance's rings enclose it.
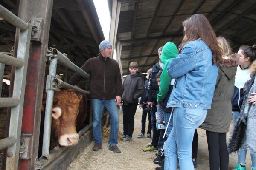
<instances>
[{"instance_id":1,"label":"black trousers of the boy facing forward in dark grey jacket","mask_svg":"<svg viewBox=\"0 0 256 170\"><path fill-rule=\"evenodd\" d=\"M132 137L134 131L134 115L137 109L137 103L128 103L128 105L123 105L123 125L124 125L124 135L129 135Z\"/></svg>"}]
</instances>

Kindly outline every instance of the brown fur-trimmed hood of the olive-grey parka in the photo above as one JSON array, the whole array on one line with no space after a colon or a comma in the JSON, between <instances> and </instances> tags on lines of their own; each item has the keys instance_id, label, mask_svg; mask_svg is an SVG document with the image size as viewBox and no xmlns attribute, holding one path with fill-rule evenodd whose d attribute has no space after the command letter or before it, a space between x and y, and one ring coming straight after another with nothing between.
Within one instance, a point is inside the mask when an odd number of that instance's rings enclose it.
<instances>
[{"instance_id":1,"label":"brown fur-trimmed hood of the olive-grey parka","mask_svg":"<svg viewBox=\"0 0 256 170\"><path fill-rule=\"evenodd\" d=\"M238 54L232 54L230 56L223 56L220 69L225 73L227 78L233 79L233 77L236 76L236 67L239 62L239 55ZM230 67L234 67L234 69L230 69Z\"/></svg>"}]
</instances>

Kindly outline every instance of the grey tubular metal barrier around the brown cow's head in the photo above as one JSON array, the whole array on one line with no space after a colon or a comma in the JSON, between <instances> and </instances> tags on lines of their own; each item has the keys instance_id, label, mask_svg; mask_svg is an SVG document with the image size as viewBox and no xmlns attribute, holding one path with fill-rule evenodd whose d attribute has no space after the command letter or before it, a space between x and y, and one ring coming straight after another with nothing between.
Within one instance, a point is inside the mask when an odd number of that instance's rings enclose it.
<instances>
[{"instance_id":1,"label":"grey tubular metal barrier around the brown cow's head","mask_svg":"<svg viewBox=\"0 0 256 170\"><path fill-rule=\"evenodd\" d=\"M36 161L36 169L42 169L47 164L49 164L52 160L54 160L58 155L60 155L67 147L58 148L57 150L52 150L50 153L50 137L51 137L51 122L52 122L52 102L54 91L58 91L59 88L71 88L74 91L77 91L82 94L89 95L89 91L82 90L81 88L77 88L73 85L70 85L66 82L63 82L58 75L56 75L57 70L57 62L59 64L70 68L71 70L77 72L82 77L89 79L90 75L75 65L70 59L67 58L65 54L62 54L55 48L49 48L46 56L50 61L49 65L49 74L47 75L46 81L46 90L47 90L47 98L46 98L46 106L45 106L45 118L44 118L44 137L43 137L43 147L42 147L42 156ZM90 124L84 127L84 129L79 131L79 137L86 133L92 127L92 112L90 112Z\"/></svg>"}]
</instances>

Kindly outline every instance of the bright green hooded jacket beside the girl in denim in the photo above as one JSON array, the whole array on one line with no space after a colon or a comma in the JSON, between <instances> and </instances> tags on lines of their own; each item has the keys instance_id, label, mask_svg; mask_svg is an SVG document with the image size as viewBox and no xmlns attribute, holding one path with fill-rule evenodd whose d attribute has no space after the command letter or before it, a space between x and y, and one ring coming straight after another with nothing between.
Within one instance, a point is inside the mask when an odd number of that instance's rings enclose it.
<instances>
[{"instance_id":1,"label":"bright green hooded jacket beside the girl in denim","mask_svg":"<svg viewBox=\"0 0 256 170\"><path fill-rule=\"evenodd\" d=\"M163 71L160 77L160 86L159 91L157 94L157 102L163 103L164 98L168 94L169 86L172 78L169 76L167 72L167 67L169 65L169 62L177 57L178 55L178 49L176 45L173 42L167 42L163 46L162 55L160 57L161 62L163 62Z\"/></svg>"}]
</instances>

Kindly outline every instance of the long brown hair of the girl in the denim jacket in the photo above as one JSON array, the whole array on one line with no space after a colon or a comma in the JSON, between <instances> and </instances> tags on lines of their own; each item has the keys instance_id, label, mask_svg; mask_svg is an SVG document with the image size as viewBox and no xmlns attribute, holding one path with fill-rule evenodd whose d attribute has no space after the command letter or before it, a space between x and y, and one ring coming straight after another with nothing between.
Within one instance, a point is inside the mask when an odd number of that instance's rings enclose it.
<instances>
[{"instance_id":1,"label":"long brown hair of the girl in the denim jacket","mask_svg":"<svg viewBox=\"0 0 256 170\"><path fill-rule=\"evenodd\" d=\"M203 14L194 14L183 22L184 38L180 45L180 51L186 43L201 38L212 51L212 64L220 65L221 49L212 26Z\"/></svg>"}]
</instances>

